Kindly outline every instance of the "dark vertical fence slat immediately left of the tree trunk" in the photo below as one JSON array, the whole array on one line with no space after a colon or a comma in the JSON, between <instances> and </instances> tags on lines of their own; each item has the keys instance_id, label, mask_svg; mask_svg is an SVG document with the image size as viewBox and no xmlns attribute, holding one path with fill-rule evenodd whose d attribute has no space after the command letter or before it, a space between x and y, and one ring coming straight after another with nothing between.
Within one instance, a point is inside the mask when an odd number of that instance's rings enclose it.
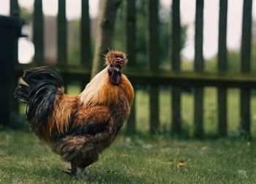
<instances>
[{"instance_id":1,"label":"dark vertical fence slat immediately left of the tree trunk","mask_svg":"<svg viewBox=\"0 0 256 184\"><path fill-rule=\"evenodd\" d=\"M81 16L81 64L87 69L91 68L91 39L90 39L90 17L89 17L89 0L82 0Z\"/></svg>"}]
</instances>

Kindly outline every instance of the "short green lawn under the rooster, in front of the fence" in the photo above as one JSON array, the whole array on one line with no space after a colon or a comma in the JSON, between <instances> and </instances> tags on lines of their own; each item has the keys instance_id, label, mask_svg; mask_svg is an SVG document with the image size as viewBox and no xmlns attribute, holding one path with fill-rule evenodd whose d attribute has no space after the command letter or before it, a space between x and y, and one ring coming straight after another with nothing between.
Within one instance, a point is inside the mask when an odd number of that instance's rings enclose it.
<instances>
[{"instance_id":1,"label":"short green lawn under the rooster, in front of the fence","mask_svg":"<svg viewBox=\"0 0 256 184\"><path fill-rule=\"evenodd\" d=\"M0 183L86 183L26 131L0 131ZM90 183L255 183L256 142L119 134L88 167ZM180 161L184 165L178 166Z\"/></svg>"}]
</instances>

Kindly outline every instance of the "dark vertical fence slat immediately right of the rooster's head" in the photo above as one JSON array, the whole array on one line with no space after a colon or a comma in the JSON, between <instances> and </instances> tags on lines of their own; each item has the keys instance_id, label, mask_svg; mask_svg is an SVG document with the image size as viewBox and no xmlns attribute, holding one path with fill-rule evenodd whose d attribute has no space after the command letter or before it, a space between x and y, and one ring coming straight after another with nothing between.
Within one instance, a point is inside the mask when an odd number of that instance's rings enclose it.
<instances>
[{"instance_id":1,"label":"dark vertical fence slat immediately right of the rooster's head","mask_svg":"<svg viewBox=\"0 0 256 184\"><path fill-rule=\"evenodd\" d=\"M127 0L127 20L126 20L126 36L127 36L127 53L128 66L136 66L136 37L135 37L135 0ZM135 89L134 89L135 90ZM136 91L135 91L136 92ZM132 104L129 119L127 121L127 131L135 132L135 101Z\"/></svg>"}]
</instances>

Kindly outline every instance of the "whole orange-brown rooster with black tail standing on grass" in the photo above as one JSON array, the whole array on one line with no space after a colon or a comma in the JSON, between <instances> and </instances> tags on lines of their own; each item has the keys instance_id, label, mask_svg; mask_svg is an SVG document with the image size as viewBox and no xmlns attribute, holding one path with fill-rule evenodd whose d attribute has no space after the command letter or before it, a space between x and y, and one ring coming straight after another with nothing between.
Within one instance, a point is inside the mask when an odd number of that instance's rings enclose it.
<instances>
[{"instance_id":1,"label":"whole orange-brown rooster with black tail standing on grass","mask_svg":"<svg viewBox=\"0 0 256 184\"><path fill-rule=\"evenodd\" d=\"M50 66L24 71L15 99L26 104L31 131L70 163L69 175L90 179L86 166L97 161L128 118L134 91L121 73L126 63L124 53L108 52L107 67L75 96L64 93L59 72Z\"/></svg>"}]
</instances>

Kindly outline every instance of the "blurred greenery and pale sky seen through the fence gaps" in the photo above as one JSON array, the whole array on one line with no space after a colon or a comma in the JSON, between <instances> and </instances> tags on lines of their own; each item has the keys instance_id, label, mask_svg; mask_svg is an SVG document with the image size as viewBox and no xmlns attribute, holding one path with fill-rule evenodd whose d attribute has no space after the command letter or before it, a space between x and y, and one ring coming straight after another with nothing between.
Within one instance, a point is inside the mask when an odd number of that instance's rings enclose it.
<instances>
[{"instance_id":1,"label":"blurred greenery and pale sky seen through the fence gaps","mask_svg":"<svg viewBox=\"0 0 256 184\"><path fill-rule=\"evenodd\" d=\"M90 23L90 62L94 57L95 40L97 39L97 23L102 1L89 0L89 23ZM227 1L227 71L241 71L241 35L243 18L242 0ZM34 1L18 0L20 8L20 18L25 21L22 27L22 34L18 40L18 63L30 64L34 60L33 42L33 13ZM72 66L80 65L80 20L81 20L81 0L66 0L67 18L67 64ZM135 61L139 68L148 67L147 53L147 29L148 11L147 0L135 1ZM158 5L158 64L159 69L171 70L171 44L172 37L172 4L171 0L159 0ZM204 71L217 72L218 60L218 38L219 38L219 1L205 0L203 4L203 58ZM126 37L126 9L127 1L121 1L116 15L115 32L111 49L121 50L127 53ZM43 13L43 43L45 64L56 64L57 59L57 0L42 0ZM10 15L10 0L0 1L0 15ZM195 15L196 0L180 1L181 20L181 71L193 71L195 61ZM252 49L250 71L256 72L256 1L252 1ZM128 53L129 57L129 53ZM91 65L91 64L90 64ZM129 76L129 72L127 72ZM67 78L67 77L66 77ZM65 77L64 77L65 82ZM83 88L81 81L68 80L67 93L78 94ZM150 115L150 91L145 83L136 83L135 129L138 132L148 133L151 125ZM203 88L203 134L216 136L218 134L218 103L217 88ZM158 133L168 133L172 125L172 87L170 85L159 85L159 95L157 101L159 112ZM256 135L256 91L250 91L249 98L249 123L252 136ZM238 136L241 129L241 101L239 88L227 88L227 134ZM174 107L175 108L175 107ZM19 105L18 112L12 112L13 126L26 125L24 116L25 108ZM183 86L181 88L181 134L185 137L192 137L195 130L195 98L194 88ZM126 129L126 127L124 127Z\"/></svg>"}]
</instances>

